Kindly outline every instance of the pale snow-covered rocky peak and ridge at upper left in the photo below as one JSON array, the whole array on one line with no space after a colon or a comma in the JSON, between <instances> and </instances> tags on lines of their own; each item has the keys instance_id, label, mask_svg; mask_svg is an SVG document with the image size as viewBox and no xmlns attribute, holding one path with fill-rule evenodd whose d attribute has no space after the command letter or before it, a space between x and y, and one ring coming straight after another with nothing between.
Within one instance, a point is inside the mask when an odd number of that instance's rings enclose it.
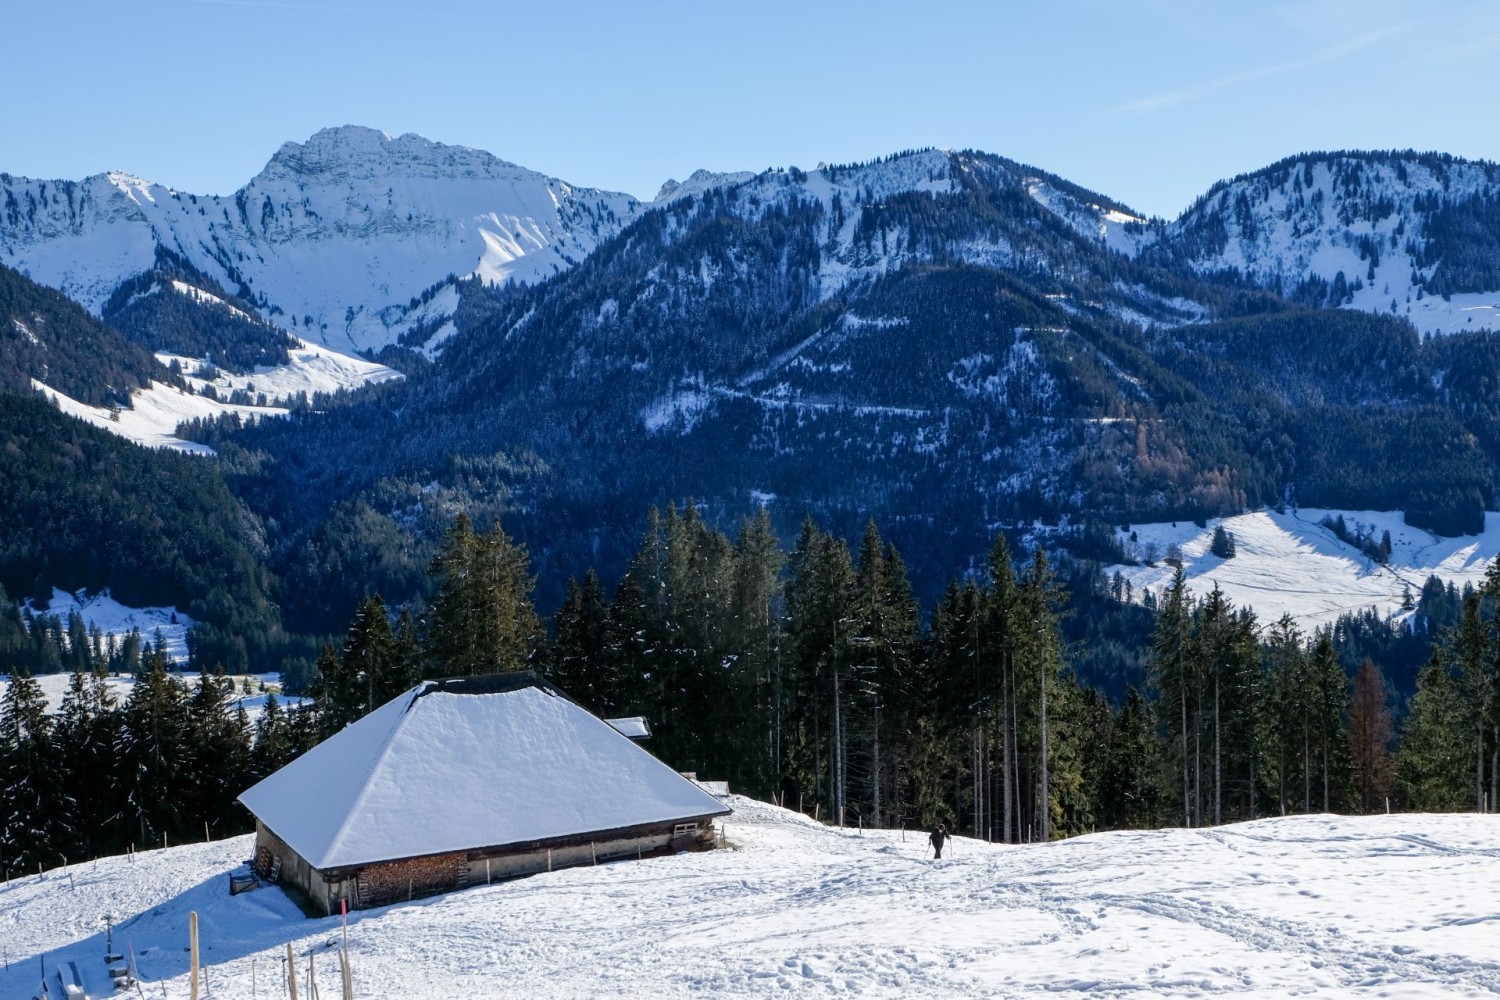
<instances>
[{"instance_id":1,"label":"pale snow-covered rocky peak and ridge at upper left","mask_svg":"<svg viewBox=\"0 0 1500 1000\"><path fill-rule=\"evenodd\" d=\"M482 150L345 126L285 144L228 196L122 172L0 175L0 262L98 313L160 244L290 331L363 351L438 330L430 306L450 276L549 277L639 208Z\"/></svg>"}]
</instances>

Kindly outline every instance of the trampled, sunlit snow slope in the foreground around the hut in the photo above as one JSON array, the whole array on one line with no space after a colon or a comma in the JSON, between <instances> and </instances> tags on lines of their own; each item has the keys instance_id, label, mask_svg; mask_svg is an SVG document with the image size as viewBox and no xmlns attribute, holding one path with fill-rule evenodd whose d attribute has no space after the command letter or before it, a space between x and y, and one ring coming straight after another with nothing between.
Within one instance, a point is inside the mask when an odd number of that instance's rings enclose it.
<instances>
[{"instance_id":1,"label":"trampled, sunlit snow slope in the foreground around the hut","mask_svg":"<svg viewBox=\"0 0 1500 1000\"><path fill-rule=\"evenodd\" d=\"M826 829L730 799L729 850L573 868L350 918L362 999L1458 997L1500 993L1500 820L1310 816L1004 847ZM105 918L147 997L282 997L285 945L336 996L339 919L230 897L250 838L0 888L0 996L74 961L108 996ZM252 976L255 993L252 994ZM56 994L57 984L52 982ZM134 994L132 994L134 996Z\"/></svg>"}]
</instances>

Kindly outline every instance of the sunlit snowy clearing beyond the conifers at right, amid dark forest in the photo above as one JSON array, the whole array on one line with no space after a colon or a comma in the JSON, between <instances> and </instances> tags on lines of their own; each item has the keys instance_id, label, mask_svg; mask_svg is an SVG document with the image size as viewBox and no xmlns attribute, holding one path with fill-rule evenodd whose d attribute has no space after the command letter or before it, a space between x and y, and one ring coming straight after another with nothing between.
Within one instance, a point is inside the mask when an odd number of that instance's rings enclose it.
<instances>
[{"instance_id":1,"label":"sunlit snowy clearing beyond the conifers at right, amid dark forest","mask_svg":"<svg viewBox=\"0 0 1500 1000\"><path fill-rule=\"evenodd\" d=\"M1370 559L1359 549L1341 541L1320 522L1344 517L1350 532L1380 541L1390 532L1390 561L1384 565ZM1234 558L1220 559L1209 549L1214 529L1222 526L1234 537ZM1130 541L1130 534L1137 537ZM1155 565L1110 567L1136 588L1150 588L1158 597L1172 582L1173 567L1162 562L1168 546L1182 552L1184 577L1197 597L1214 585L1239 607L1251 607L1262 622L1290 615L1300 627L1329 625L1344 612L1368 607L1382 616L1401 613L1402 597L1422 591L1430 576L1460 589L1466 583L1479 586L1485 570L1500 555L1500 514L1485 516L1485 531L1479 535L1442 538L1420 528L1412 528L1401 511L1335 511L1288 508L1287 513L1252 511L1234 517L1209 520L1198 528L1190 520L1158 525L1131 525L1131 532L1116 532L1143 559L1148 546L1155 546Z\"/></svg>"}]
</instances>

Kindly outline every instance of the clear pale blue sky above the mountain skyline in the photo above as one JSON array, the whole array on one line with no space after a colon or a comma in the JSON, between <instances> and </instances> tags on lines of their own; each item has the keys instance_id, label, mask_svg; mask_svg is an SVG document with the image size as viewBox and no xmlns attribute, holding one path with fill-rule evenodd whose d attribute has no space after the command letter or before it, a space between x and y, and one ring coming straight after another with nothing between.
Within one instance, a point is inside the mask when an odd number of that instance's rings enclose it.
<instances>
[{"instance_id":1,"label":"clear pale blue sky above the mountain skyline","mask_svg":"<svg viewBox=\"0 0 1500 1000\"><path fill-rule=\"evenodd\" d=\"M1494 0L6 0L0 169L226 193L368 124L652 196L920 145L1174 216L1312 148L1500 159Z\"/></svg>"}]
</instances>

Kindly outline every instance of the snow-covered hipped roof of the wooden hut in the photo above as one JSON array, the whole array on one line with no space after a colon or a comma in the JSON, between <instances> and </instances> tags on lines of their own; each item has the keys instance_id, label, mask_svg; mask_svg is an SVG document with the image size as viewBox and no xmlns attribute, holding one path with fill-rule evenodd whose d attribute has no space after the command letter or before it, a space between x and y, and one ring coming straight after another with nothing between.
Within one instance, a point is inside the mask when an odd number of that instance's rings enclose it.
<instances>
[{"instance_id":1,"label":"snow-covered hipped roof of the wooden hut","mask_svg":"<svg viewBox=\"0 0 1500 1000\"><path fill-rule=\"evenodd\" d=\"M423 682L240 802L320 870L729 813L528 673Z\"/></svg>"}]
</instances>

